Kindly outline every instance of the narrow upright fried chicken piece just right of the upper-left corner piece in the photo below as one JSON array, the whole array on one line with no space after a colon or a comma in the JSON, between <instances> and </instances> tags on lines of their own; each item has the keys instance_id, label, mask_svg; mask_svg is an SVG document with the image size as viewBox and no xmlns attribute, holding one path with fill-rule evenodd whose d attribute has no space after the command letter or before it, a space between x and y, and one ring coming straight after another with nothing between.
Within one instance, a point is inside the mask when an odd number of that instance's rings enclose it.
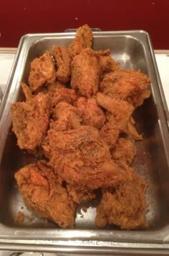
<instances>
[{"instance_id":1,"label":"narrow upright fried chicken piece just right of the upper-left corner piece","mask_svg":"<svg viewBox=\"0 0 169 256\"><path fill-rule=\"evenodd\" d=\"M64 46L53 46L52 55L57 66L56 77L62 83L67 83L70 76L70 64L72 58L70 57L69 50Z\"/></svg>"}]
</instances>

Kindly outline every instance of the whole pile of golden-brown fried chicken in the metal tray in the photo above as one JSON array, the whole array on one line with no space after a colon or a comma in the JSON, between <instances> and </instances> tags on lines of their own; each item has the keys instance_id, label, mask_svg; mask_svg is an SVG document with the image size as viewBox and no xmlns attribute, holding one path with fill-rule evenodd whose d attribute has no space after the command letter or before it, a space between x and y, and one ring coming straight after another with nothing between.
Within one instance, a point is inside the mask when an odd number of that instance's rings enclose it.
<instances>
[{"instance_id":1,"label":"whole pile of golden-brown fried chicken in the metal tray","mask_svg":"<svg viewBox=\"0 0 169 256\"><path fill-rule=\"evenodd\" d=\"M92 50L92 30L77 29L69 47L35 58L21 83L26 101L11 105L21 150L42 155L15 173L37 216L73 228L77 205L102 193L95 224L145 227L147 184L130 168L136 154L132 113L150 96L150 78L123 70L110 50Z\"/></svg>"}]
</instances>

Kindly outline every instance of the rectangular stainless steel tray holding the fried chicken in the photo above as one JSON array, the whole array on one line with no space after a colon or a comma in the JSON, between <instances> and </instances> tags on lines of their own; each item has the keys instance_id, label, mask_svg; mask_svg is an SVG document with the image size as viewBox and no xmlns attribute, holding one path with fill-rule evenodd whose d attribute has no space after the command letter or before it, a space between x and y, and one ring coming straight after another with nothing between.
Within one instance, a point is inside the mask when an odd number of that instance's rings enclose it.
<instances>
[{"instance_id":1,"label":"rectangular stainless steel tray holding the fried chicken","mask_svg":"<svg viewBox=\"0 0 169 256\"><path fill-rule=\"evenodd\" d=\"M42 252L90 252L165 254L169 250L169 134L168 109L160 83L150 37L144 31L94 32L94 49L110 48L122 68L140 69L151 78L152 95L137 109L137 129L143 142L137 142L133 168L148 181L150 203L148 227L144 230L122 231L115 227L97 229L94 225L95 204L87 213L79 207L76 228L63 230L52 223L36 219L26 210L19 195L14 173L34 161L16 146L11 133L12 102L21 101L21 81L27 81L30 63L52 45L69 45L74 33L30 34L21 38L0 111L0 249ZM17 223L21 211L26 216ZM83 217L82 217L83 215ZM165 249L161 251L161 249ZM169 251L168 251L169 252Z\"/></svg>"}]
</instances>

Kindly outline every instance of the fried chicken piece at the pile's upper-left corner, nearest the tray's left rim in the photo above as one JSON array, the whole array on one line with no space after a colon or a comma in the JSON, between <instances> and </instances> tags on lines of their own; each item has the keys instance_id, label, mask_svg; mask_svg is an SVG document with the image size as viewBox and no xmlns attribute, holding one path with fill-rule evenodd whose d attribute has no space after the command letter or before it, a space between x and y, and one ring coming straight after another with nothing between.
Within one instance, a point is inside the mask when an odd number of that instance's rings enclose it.
<instances>
[{"instance_id":1,"label":"fried chicken piece at the pile's upper-left corner, nearest the tray's left rim","mask_svg":"<svg viewBox=\"0 0 169 256\"><path fill-rule=\"evenodd\" d=\"M29 86L31 91L36 91L39 87L47 83L52 83L56 78L54 61L49 52L45 52L40 58L35 58L31 63L29 73Z\"/></svg>"}]
</instances>

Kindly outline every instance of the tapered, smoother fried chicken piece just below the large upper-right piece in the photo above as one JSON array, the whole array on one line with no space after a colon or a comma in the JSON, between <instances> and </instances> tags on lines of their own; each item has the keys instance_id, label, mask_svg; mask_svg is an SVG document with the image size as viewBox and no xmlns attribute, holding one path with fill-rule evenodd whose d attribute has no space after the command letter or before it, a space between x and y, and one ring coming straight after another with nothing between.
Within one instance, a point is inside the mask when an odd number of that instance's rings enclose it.
<instances>
[{"instance_id":1,"label":"tapered, smoother fried chicken piece just below the large upper-right piece","mask_svg":"<svg viewBox=\"0 0 169 256\"><path fill-rule=\"evenodd\" d=\"M130 119L134 107L127 101L112 99L103 93L97 93L97 103L104 109L107 109L107 120L117 129L122 131Z\"/></svg>"}]
</instances>

